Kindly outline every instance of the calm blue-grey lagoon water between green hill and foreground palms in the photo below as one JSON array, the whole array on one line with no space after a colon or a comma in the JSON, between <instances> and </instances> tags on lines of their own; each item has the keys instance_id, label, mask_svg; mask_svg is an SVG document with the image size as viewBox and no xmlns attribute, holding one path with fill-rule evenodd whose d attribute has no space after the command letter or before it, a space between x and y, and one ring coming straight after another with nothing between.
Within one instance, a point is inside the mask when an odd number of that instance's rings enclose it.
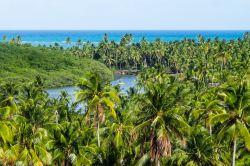
<instances>
[{"instance_id":1,"label":"calm blue-grey lagoon water between green hill and foreground palms","mask_svg":"<svg viewBox=\"0 0 250 166\"><path fill-rule=\"evenodd\" d=\"M136 76L132 75L121 75L116 76L115 80L112 81L112 85L120 85L122 93L126 93L126 91L135 85ZM67 87L60 87L60 88L53 88L47 90L49 96L51 98L57 98L61 94L61 91L66 91L69 94L69 97L75 101L75 93L79 90L75 86L67 86Z\"/></svg>"}]
</instances>

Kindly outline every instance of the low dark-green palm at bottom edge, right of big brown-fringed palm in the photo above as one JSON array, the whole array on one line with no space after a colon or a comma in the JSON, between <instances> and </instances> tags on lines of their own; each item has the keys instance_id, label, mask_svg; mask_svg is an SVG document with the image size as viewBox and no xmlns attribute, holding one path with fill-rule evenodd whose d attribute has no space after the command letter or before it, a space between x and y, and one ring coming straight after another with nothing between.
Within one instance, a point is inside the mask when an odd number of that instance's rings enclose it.
<instances>
[{"instance_id":1,"label":"low dark-green palm at bottom edge, right of big brown-fringed palm","mask_svg":"<svg viewBox=\"0 0 250 166\"><path fill-rule=\"evenodd\" d=\"M217 153L214 146L212 137L209 136L205 128L193 126L190 136L183 146L174 151L173 157L168 161L168 164L193 166L223 165L223 162L216 158Z\"/></svg>"}]
</instances>

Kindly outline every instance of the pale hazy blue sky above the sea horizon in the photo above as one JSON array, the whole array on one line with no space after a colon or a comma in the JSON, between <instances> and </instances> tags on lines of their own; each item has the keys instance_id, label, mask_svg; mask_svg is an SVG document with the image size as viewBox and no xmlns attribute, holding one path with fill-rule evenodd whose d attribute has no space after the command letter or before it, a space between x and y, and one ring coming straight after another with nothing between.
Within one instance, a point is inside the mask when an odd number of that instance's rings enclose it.
<instances>
[{"instance_id":1,"label":"pale hazy blue sky above the sea horizon","mask_svg":"<svg viewBox=\"0 0 250 166\"><path fill-rule=\"evenodd\" d=\"M250 0L0 0L0 29L250 29Z\"/></svg>"}]
</instances>

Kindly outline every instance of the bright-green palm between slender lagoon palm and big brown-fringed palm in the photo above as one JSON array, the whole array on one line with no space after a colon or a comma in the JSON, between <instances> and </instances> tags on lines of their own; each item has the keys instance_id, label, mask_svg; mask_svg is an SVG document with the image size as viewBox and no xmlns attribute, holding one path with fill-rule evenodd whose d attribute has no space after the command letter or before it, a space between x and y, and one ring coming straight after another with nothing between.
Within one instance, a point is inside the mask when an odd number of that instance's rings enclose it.
<instances>
[{"instance_id":1,"label":"bright-green palm between slender lagoon palm and big brown-fringed palm","mask_svg":"<svg viewBox=\"0 0 250 166\"><path fill-rule=\"evenodd\" d=\"M107 151L107 154L110 154L106 159L106 163L111 164L113 160L116 164L126 165L131 159L130 155L133 147L131 131L134 126L122 110L117 115L116 119L109 119L106 127L102 128L102 136L105 138L102 149Z\"/></svg>"}]
</instances>

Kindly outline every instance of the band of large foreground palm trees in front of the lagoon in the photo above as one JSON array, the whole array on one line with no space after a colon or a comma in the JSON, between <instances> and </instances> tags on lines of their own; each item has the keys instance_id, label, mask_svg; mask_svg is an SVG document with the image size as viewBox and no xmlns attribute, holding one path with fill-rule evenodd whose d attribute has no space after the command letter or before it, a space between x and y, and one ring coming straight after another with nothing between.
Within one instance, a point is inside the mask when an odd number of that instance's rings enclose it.
<instances>
[{"instance_id":1,"label":"band of large foreground palm trees in front of the lagoon","mask_svg":"<svg viewBox=\"0 0 250 166\"><path fill-rule=\"evenodd\" d=\"M89 73L78 83L76 103L65 92L49 98L40 77L1 84L0 163L229 165L235 139L236 163L249 162L245 79L199 93L195 82L161 69L138 78L140 90L123 96Z\"/></svg>"}]
</instances>

